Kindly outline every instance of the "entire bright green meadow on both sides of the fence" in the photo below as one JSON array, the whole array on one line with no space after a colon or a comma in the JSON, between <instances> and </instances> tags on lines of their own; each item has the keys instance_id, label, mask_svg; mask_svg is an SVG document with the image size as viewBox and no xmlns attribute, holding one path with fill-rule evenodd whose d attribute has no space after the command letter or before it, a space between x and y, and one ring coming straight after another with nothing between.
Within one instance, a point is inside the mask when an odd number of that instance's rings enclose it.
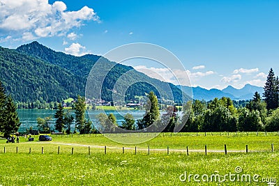
<instances>
[{"instance_id":1,"label":"entire bright green meadow on both sides of the fence","mask_svg":"<svg viewBox=\"0 0 279 186\"><path fill-rule=\"evenodd\" d=\"M130 134L125 135L119 134L119 138L130 137ZM140 134L140 138L144 135ZM138 134L131 134L131 137L139 138ZM229 173L235 174L236 180L227 179L221 185L268 185L267 180L279 179L279 136L275 132L259 133L258 136L255 132L248 136L246 133L229 136L226 133L213 133L213 136L211 133L206 136L183 133L181 136L172 134L172 137L165 133L137 144L136 154L135 145L118 144L102 134L52 135L52 138L52 143L24 142L23 137L20 144L4 144L6 140L0 140L0 185L218 185L218 179L210 182L210 177L220 175L223 178ZM262 152L228 152L227 155L209 152L205 155L202 151L191 151L204 150L204 145L209 150L223 150L224 144L228 150L245 150L248 144L249 150ZM273 153L271 144L274 145ZM146 150L148 145L150 155ZM107 146L106 154L103 146ZM183 151L186 146L189 155ZM242 171L236 172L239 169ZM185 173L187 179L183 182ZM193 176L189 182L190 174L198 174L200 182L195 182ZM259 175L258 182L252 177L250 183L246 182L246 176L256 174ZM209 180L202 175L208 175Z\"/></svg>"}]
</instances>

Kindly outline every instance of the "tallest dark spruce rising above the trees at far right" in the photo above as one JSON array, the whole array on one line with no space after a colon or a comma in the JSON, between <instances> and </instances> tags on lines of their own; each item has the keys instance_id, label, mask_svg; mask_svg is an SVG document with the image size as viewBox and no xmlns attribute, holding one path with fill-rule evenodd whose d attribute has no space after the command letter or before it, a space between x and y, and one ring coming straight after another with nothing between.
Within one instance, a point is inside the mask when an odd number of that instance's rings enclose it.
<instances>
[{"instance_id":1,"label":"tallest dark spruce rising above the trees at far right","mask_svg":"<svg viewBox=\"0 0 279 186\"><path fill-rule=\"evenodd\" d=\"M266 78L266 84L264 86L264 101L266 102L266 109L276 109L278 107L278 82L273 72L273 69L269 70L269 75Z\"/></svg>"}]
</instances>

